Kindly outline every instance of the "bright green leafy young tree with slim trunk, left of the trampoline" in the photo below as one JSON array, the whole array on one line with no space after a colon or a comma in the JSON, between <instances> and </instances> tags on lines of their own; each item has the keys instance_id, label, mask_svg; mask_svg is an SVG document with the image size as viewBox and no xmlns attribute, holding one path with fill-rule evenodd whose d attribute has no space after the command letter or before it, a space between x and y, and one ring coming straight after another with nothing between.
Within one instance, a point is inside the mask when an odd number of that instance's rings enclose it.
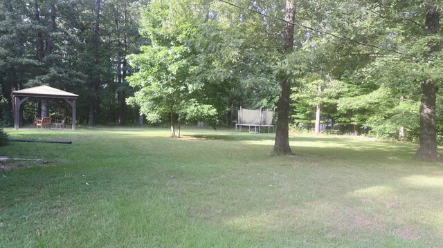
<instances>
[{"instance_id":1,"label":"bright green leafy young tree with slim trunk, left of the trampoline","mask_svg":"<svg viewBox=\"0 0 443 248\"><path fill-rule=\"evenodd\" d=\"M196 46L201 38L196 34L204 22L199 15L187 16L188 2L153 1L149 8L144 13L142 30L152 44L143 46L142 54L129 56L132 66L139 70L129 82L140 90L128 102L140 106L149 122L169 120L171 137L176 137L183 121L217 118L215 108L202 102L208 87L195 70L200 61Z\"/></svg>"}]
</instances>

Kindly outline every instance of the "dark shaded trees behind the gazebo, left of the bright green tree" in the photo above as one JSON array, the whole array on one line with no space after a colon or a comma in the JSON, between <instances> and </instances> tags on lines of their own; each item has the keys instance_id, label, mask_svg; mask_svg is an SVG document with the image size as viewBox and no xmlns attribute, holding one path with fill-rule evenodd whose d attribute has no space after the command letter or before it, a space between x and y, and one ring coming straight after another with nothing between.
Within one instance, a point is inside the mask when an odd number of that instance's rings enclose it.
<instances>
[{"instance_id":1,"label":"dark shaded trees behind the gazebo, left of the bright green tree","mask_svg":"<svg viewBox=\"0 0 443 248\"><path fill-rule=\"evenodd\" d=\"M134 122L138 110L125 104L133 90L126 56L146 39L138 35L143 1L1 0L0 84L3 125L12 123L13 90L48 85L80 95L78 122ZM28 101L25 124L45 101ZM60 105L49 102L51 113Z\"/></svg>"}]
</instances>

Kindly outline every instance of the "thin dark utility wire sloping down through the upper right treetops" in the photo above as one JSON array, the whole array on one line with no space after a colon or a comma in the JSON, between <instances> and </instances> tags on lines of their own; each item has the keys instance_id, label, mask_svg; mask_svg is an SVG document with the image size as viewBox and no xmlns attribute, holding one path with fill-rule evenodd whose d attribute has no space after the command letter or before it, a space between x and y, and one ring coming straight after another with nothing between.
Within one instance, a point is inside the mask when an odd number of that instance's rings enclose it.
<instances>
[{"instance_id":1,"label":"thin dark utility wire sloping down through the upper right treetops","mask_svg":"<svg viewBox=\"0 0 443 248\"><path fill-rule=\"evenodd\" d=\"M428 59L428 58L425 58L425 57L417 57L417 56L415 56L415 55L411 55L411 54L409 54L409 53L401 53L401 52L399 52L399 51L397 51L397 50L392 50L392 49L389 49L389 48L383 48L383 47L381 47L381 46L376 46L376 45L368 44L368 43L365 43L365 42L356 41L356 40L354 40L354 39L350 39L350 38L343 37L343 36L340 36L340 35L334 35L334 34L332 34L332 33L330 33L330 32L326 32L326 31L323 31L323 30L318 30L318 29L316 29L316 28L311 28L311 27L309 27L309 26L305 26L305 25L302 25L302 24L300 24L300 23L294 23L294 22L292 22L292 21L287 21L287 20L282 19L282 18L279 18L279 17L274 17L274 16L272 16L272 15L267 15L267 14L264 14L264 13L259 12L259 11L257 11L257 10L253 10L253 9L251 9L251 8L244 8L244 7L242 7L242 6L237 6L236 4L234 4L234 3L230 3L230 2L228 2L228 1L224 1L224 0L218 0L218 1L221 1L222 3L226 3L226 4L230 5L230 6L235 7L235 8L239 8L239 9L242 9L242 10L247 10L247 11L250 11L250 12L254 12L254 13L256 13L256 14L258 14L258 15L262 15L262 16L264 16L264 17L269 17L269 18L272 18L272 19L277 19L278 21L283 21L283 22L285 22L285 23L289 23L289 24L294 25L294 26L298 26L298 27L301 27L301 28L306 28L306 29L311 30L311 31L314 31L314 32L319 32L319 33L321 33L321 34L323 34L323 35L329 35L329 36L332 36L332 37L336 37L336 38L338 38L338 39L343 39L343 40L345 40L345 41L351 41L351 42L353 42L353 43L360 44L360 45L363 45L363 46L369 46L369 47L377 48L377 49L380 49L380 50L386 50L386 51L388 51L388 52L390 52L390 53L397 53L397 54L399 54L399 55L403 55L403 56L407 56L407 57L412 57L412 58L414 58L414 59L417 58L417 59L424 59L424 60L427 60L427 61L433 61L433 60Z\"/></svg>"}]
</instances>

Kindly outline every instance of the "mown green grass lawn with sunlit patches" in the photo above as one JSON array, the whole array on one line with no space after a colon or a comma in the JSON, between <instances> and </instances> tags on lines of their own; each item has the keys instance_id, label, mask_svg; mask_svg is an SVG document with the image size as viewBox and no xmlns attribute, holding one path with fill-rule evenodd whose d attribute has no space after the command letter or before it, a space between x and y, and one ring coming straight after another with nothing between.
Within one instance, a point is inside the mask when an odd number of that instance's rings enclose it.
<instances>
[{"instance_id":1,"label":"mown green grass lawn with sunlit patches","mask_svg":"<svg viewBox=\"0 0 443 248\"><path fill-rule=\"evenodd\" d=\"M416 145L293 135L273 158L273 134L6 131L73 144L0 148L46 161L0 169L0 247L443 247L443 166Z\"/></svg>"}]
</instances>

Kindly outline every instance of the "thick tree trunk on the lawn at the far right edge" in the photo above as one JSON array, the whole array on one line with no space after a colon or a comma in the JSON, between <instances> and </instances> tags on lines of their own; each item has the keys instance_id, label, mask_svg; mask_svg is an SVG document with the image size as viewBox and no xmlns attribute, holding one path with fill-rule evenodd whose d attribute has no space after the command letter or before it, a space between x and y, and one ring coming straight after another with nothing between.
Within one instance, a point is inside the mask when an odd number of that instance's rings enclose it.
<instances>
[{"instance_id":1,"label":"thick tree trunk on the lawn at the far right edge","mask_svg":"<svg viewBox=\"0 0 443 248\"><path fill-rule=\"evenodd\" d=\"M440 10L431 2L426 3L426 30L430 34L440 32ZM430 43L432 44L432 42ZM440 47L429 45L431 53L438 52ZM437 130L435 124L436 89L434 82L422 82L422 104L420 106L420 134L419 147L415 159L437 161L440 155L437 152Z\"/></svg>"}]
</instances>

